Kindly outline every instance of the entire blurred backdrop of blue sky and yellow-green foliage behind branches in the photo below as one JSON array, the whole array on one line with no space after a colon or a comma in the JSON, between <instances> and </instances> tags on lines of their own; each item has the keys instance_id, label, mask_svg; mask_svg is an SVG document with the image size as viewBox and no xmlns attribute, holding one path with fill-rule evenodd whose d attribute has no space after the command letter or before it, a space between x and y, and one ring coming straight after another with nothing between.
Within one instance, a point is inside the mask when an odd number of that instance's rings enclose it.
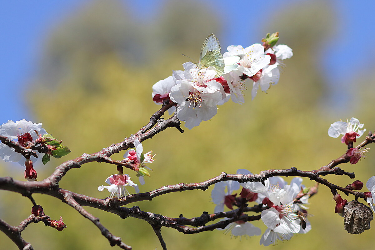
<instances>
[{"instance_id":1,"label":"entire blurred backdrop of blue sky and yellow-green foliage behind branches","mask_svg":"<svg viewBox=\"0 0 375 250\"><path fill-rule=\"evenodd\" d=\"M356 117L367 130L375 129L372 1L43 0L1 1L0 6L0 123L41 122L72 150L46 166L34 164L38 179L65 160L99 151L138 131L160 108L152 102L152 85L172 70L183 69L188 59L181 53L199 58L210 33L225 52L229 45L246 47L279 31L279 44L290 46L294 56L285 61L279 84L268 94L258 93L251 101L248 90L245 104L228 102L199 127L183 134L167 129L145 141L145 152L153 150L156 160L141 192L204 181L222 171L234 174L239 168L254 173L292 166L318 169L346 150L339 138L327 135L331 123ZM364 183L375 175L374 146L369 148L368 157L357 165L341 166L355 171ZM121 160L123 153L113 158ZM0 160L0 176L24 180L23 171ZM114 166L88 163L71 170L60 187L105 198L109 193L97 187L114 173ZM327 178L341 186L354 181ZM314 185L309 179L303 183ZM168 217L196 217L213 212L211 190L171 193L131 205ZM18 225L30 214L27 198L0 190L0 199L0 217L8 223ZM68 205L44 195L34 199L51 219L62 216L68 226L58 232L43 223L29 225L22 235L35 249L112 249L99 230ZM270 248L371 248L374 231L348 234L334 208L330 190L321 187L311 199L312 230ZM87 210L133 249L161 249L148 223ZM266 229L261 222L254 224ZM223 231L183 235L163 228L162 234L168 249L264 248L260 237L240 241ZM0 243L0 249L17 249L2 233Z\"/></svg>"}]
</instances>

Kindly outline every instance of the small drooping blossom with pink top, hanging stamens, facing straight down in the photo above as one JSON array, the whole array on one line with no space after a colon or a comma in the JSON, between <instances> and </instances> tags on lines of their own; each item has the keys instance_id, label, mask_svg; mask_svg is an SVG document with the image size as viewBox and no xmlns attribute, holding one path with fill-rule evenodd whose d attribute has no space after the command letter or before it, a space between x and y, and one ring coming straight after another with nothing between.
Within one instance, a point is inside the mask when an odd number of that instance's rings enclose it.
<instances>
[{"instance_id":1,"label":"small drooping blossom with pink top, hanging stamens, facing straight down","mask_svg":"<svg viewBox=\"0 0 375 250\"><path fill-rule=\"evenodd\" d=\"M104 189L108 189L108 192L111 192L110 199L113 197L118 197L119 199L125 198L126 195L130 195L127 192L125 186L134 187L135 192L139 193L138 184L133 183L130 181L130 177L127 174L117 174L111 175L110 177L105 180L106 183L111 184L110 186L99 186L98 190L103 191Z\"/></svg>"}]
</instances>

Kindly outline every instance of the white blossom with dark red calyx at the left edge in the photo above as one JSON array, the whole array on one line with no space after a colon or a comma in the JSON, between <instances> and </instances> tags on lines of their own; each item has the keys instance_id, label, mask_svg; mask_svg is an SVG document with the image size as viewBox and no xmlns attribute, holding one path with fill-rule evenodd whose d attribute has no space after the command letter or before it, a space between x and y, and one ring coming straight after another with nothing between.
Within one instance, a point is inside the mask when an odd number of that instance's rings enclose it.
<instances>
[{"instance_id":1,"label":"white blossom with dark red calyx at the left edge","mask_svg":"<svg viewBox=\"0 0 375 250\"><path fill-rule=\"evenodd\" d=\"M0 135L8 137L12 141L18 141L22 146L26 146L26 142L38 139L37 133L39 136L46 133L42 128L42 123L32 123L23 119L16 122L9 120L7 123L0 125ZM20 165L25 166L25 158L22 154L17 153L14 148L10 148L3 143L0 143L0 158L6 162L18 162ZM30 159L33 162L37 160L34 156L31 156Z\"/></svg>"}]
</instances>

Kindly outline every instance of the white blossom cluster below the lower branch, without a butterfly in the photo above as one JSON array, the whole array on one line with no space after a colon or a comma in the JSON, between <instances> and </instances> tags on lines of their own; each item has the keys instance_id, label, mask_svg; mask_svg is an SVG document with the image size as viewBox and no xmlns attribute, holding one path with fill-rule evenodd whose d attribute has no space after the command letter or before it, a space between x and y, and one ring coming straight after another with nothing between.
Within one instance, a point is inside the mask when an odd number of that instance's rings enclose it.
<instances>
[{"instance_id":1,"label":"white blossom cluster below the lower branch, without a butterfly","mask_svg":"<svg viewBox=\"0 0 375 250\"><path fill-rule=\"evenodd\" d=\"M237 170L237 174L252 174L246 169ZM242 190L238 197L236 190ZM226 191L225 191L226 190ZM268 178L261 182L239 183L223 181L216 183L211 198L216 207L214 213L222 212L224 206L233 210L239 207L242 199L255 202L261 206L261 220L267 226L260 244L269 246L277 241L289 240L293 234L306 234L311 229L307 219L308 199L316 190L307 189L302 185L302 178L294 178L290 184L282 177ZM250 222L237 221L230 223L224 230L231 231L234 237L261 235L261 229Z\"/></svg>"}]
</instances>

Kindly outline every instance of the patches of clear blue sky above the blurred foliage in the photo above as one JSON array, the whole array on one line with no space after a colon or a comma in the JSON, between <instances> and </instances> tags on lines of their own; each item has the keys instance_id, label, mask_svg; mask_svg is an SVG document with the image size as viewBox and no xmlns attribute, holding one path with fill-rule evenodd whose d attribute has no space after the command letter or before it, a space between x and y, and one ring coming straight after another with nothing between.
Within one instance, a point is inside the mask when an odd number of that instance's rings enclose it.
<instances>
[{"instance_id":1,"label":"patches of clear blue sky above the blurred foliage","mask_svg":"<svg viewBox=\"0 0 375 250\"><path fill-rule=\"evenodd\" d=\"M270 0L267 8L264 1L213 1L205 0L209 6L220 9L225 6L223 18L236 16L237 23L248 22L249 15L239 15L239 9L257 10L251 13L254 20L262 19L266 11L276 11L285 5L301 0ZM7 120L32 120L32 115L22 100L24 86L33 76L38 56L43 43L59 20L63 20L72 11L90 2L89 0L39 0L39 1L1 1L0 15L2 17L0 29L0 124ZM165 1L138 0L124 1L133 9L134 16L142 16L142 21L149 21L157 15L160 3ZM328 1L327 1L328 2ZM337 82L349 82L356 77L356 73L374 66L375 50L375 1L336 0L330 1L337 10L339 18L340 37L332 37L332 45L327 46L321 54L321 67L326 77L335 87ZM240 8L240 7L241 8ZM142 13L142 15L138 15ZM240 12L241 13L241 12ZM239 34L238 26L229 20L224 20L224 36L220 40L223 44L247 44L256 41L251 32ZM256 30L255 28L255 31ZM335 39L336 38L336 39ZM235 42L233 42L235 41ZM333 46L334 45L334 46ZM339 93L339 92L338 92ZM34 121L40 122L40 121Z\"/></svg>"}]
</instances>

